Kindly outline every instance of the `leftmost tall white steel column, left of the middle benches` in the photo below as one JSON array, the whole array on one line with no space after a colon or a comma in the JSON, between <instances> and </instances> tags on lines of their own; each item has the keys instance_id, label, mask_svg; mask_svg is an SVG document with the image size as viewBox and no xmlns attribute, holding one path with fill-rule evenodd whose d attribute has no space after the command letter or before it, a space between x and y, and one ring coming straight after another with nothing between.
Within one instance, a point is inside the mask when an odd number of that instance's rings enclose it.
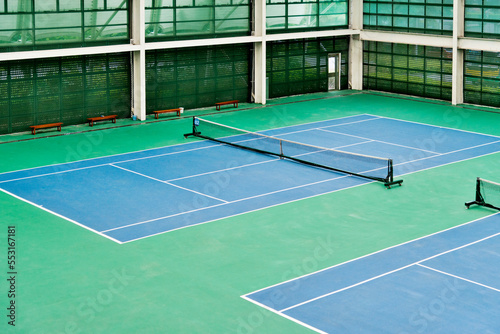
<instances>
[{"instance_id":1,"label":"leftmost tall white steel column, left of the middle benches","mask_svg":"<svg viewBox=\"0 0 500 334\"><path fill-rule=\"evenodd\" d=\"M145 0L132 1L132 44L139 50L132 52L132 113L141 121L146 120L146 28Z\"/></svg>"}]
</instances>

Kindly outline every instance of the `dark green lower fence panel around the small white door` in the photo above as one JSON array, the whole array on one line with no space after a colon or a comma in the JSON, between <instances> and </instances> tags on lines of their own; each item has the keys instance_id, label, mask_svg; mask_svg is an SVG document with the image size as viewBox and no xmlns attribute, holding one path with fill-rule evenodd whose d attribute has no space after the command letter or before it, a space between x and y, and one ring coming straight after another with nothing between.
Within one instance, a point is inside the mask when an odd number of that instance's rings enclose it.
<instances>
[{"instance_id":1,"label":"dark green lower fence panel around the small white door","mask_svg":"<svg viewBox=\"0 0 500 334\"><path fill-rule=\"evenodd\" d=\"M328 90L328 54L341 53L341 88L348 88L348 38L317 38L269 42L269 97Z\"/></svg>"}]
</instances>

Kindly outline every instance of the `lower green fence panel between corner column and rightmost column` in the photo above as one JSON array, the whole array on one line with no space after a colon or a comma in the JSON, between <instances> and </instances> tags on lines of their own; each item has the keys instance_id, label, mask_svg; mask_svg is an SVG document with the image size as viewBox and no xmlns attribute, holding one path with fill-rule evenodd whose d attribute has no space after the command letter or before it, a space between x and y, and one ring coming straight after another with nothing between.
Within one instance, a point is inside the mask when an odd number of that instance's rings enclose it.
<instances>
[{"instance_id":1,"label":"lower green fence panel between corner column and rightmost column","mask_svg":"<svg viewBox=\"0 0 500 334\"><path fill-rule=\"evenodd\" d=\"M364 89L451 100L452 50L364 42Z\"/></svg>"}]
</instances>

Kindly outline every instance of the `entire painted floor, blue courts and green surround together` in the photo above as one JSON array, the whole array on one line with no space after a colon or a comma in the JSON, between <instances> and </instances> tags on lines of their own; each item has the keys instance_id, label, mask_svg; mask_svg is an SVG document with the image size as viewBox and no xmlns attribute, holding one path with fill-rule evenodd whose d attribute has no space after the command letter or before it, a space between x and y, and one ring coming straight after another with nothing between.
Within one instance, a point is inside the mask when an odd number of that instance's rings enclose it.
<instances>
[{"instance_id":1,"label":"entire painted floor, blue courts and green surround together","mask_svg":"<svg viewBox=\"0 0 500 334\"><path fill-rule=\"evenodd\" d=\"M2 332L500 328L500 216L463 205L477 176L498 181L498 114L369 92L212 112L392 158L403 186L186 140L189 118L1 144L0 218L19 239L18 327Z\"/></svg>"}]
</instances>

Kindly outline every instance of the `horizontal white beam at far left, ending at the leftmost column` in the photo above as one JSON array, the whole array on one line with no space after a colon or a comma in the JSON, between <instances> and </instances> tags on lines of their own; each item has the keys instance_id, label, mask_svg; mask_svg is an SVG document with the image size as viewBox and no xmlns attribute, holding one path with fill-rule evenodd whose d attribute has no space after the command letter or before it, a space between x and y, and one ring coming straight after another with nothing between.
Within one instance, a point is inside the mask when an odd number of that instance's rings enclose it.
<instances>
[{"instance_id":1,"label":"horizontal white beam at far left, ending at the leftmost column","mask_svg":"<svg viewBox=\"0 0 500 334\"><path fill-rule=\"evenodd\" d=\"M70 49L3 52L0 53L0 61L97 55L114 52L139 51L140 49L141 47L139 45L120 44Z\"/></svg>"}]
</instances>

